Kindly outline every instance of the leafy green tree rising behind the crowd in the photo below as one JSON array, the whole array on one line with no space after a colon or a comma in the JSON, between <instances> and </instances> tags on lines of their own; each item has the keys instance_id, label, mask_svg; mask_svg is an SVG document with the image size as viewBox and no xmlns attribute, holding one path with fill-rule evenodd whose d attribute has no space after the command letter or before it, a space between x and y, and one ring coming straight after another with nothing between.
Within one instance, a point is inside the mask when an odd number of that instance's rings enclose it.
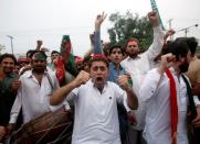
<instances>
[{"instance_id":1,"label":"leafy green tree rising behind the crowd","mask_svg":"<svg viewBox=\"0 0 200 144\"><path fill-rule=\"evenodd\" d=\"M137 13L133 15L129 11L125 15L116 12L109 16L109 21L114 24L108 29L110 44L125 46L129 38L137 38L143 52L151 44L152 26L147 16L139 18Z\"/></svg>"}]
</instances>

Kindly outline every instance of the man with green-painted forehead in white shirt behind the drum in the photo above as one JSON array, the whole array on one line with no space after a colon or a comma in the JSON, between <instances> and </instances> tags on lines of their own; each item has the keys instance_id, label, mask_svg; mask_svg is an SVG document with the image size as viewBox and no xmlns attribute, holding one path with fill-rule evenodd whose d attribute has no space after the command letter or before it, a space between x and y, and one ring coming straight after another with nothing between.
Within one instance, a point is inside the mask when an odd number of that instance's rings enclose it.
<instances>
[{"instance_id":1,"label":"man with green-painted forehead in white shirt behind the drum","mask_svg":"<svg viewBox=\"0 0 200 144\"><path fill-rule=\"evenodd\" d=\"M52 73L46 70L46 55L42 51L35 51L32 55L32 69L21 77L21 87L10 114L10 126L17 122L22 108L23 123L51 110L49 99L54 89L59 88L59 81Z\"/></svg>"}]
</instances>

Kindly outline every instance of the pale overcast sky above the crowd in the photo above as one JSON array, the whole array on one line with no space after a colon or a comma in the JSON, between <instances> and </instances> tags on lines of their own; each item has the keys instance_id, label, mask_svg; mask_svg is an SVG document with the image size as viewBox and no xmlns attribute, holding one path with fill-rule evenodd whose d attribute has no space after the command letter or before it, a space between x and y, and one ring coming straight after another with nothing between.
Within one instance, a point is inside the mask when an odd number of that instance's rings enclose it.
<instances>
[{"instance_id":1,"label":"pale overcast sky above the crowd","mask_svg":"<svg viewBox=\"0 0 200 144\"><path fill-rule=\"evenodd\" d=\"M176 31L189 27L187 36L200 38L200 0L156 0L162 23ZM108 40L107 30L112 26L108 16L126 11L147 15L151 11L150 0L0 0L0 44L1 53L14 54L35 48L36 40L43 47L60 51L62 35L70 35L75 55L83 56L90 48L88 34L94 31L97 14L105 11L107 19L102 25L102 40ZM199 26L193 26L199 24ZM185 31L175 37L185 36Z\"/></svg>"}]
</instances>

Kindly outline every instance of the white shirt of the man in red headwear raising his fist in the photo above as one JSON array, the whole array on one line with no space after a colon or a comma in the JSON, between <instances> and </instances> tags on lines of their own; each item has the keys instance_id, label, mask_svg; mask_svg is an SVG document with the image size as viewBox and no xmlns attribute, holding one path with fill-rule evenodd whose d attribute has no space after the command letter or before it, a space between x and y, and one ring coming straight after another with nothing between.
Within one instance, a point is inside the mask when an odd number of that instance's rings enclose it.
<instances>
[{"instance_id":1,"label":"white shirt of the man in red headwear raising his fist","mask_svg":"<svg viewBox=\"0 0 200 144\"><path fill-rule=\"evenodd\" d=\"M145 108L144 103L139 97L139 88L143 82L144 75L155 67L154 58L160 53L164 45L164 33L159 26L154 27L154 42L150 47L139 55L137 58L133 59L127 57L120 65L131 77L133 89L138 97L139 107L135 110L135 115L137 119L137 125L135 129L143 130L145 126Z\"/></svg>"}]
</instances>

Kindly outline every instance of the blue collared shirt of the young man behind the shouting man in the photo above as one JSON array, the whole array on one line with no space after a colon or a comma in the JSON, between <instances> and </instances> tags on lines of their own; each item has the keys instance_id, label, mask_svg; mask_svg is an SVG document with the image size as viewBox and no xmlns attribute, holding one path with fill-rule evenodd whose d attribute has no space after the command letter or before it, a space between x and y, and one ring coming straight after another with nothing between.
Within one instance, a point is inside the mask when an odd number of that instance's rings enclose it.
<instances>
[{"instance_id":1,"label":"blue collared shirt of the young man behind the shouting man","mask_svg":"<svg viewBox=\"0 0 200 144\"><path fill-rule=\"evenodd\" d=\"M109 63L109 75L107 77L108 81L117 84L117 77L125 74L125 69L122 66L119 66L119 69L116 69L116 66L113 63Z\"/></svg>"}]
</instances>

